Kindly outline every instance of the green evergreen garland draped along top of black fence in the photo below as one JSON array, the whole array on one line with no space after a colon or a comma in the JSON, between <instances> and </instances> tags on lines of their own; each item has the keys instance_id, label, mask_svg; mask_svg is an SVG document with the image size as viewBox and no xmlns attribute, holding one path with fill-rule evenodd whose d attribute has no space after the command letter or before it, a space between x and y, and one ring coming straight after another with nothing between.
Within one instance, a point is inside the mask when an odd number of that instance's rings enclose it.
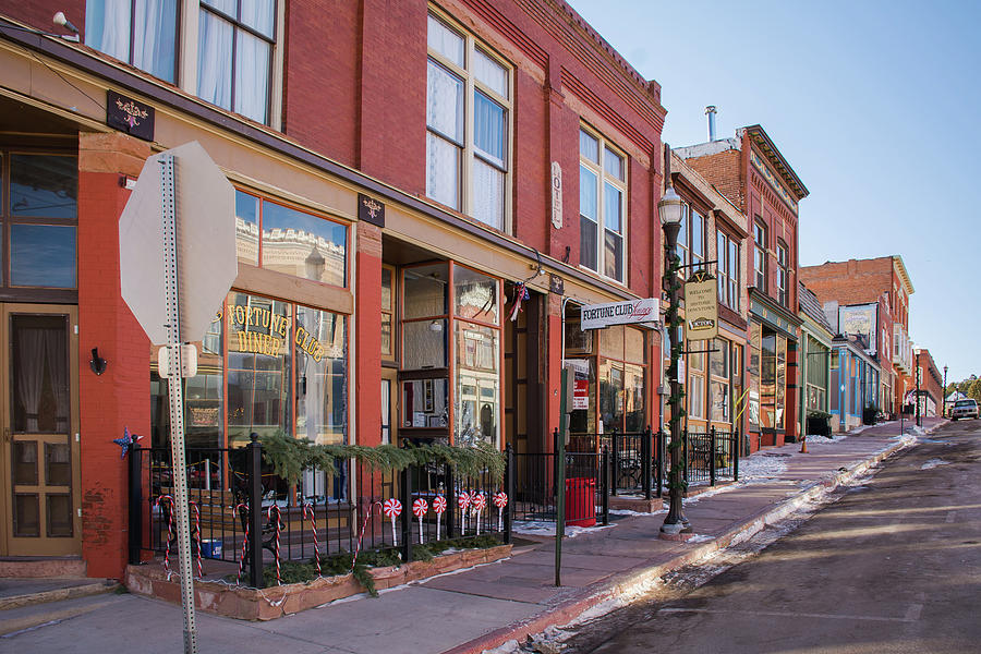
<instances>
[{"instance_id":1,"label":"green evergreen garland draped along top of black fence","mask_svg":"<svg viewBox=\"0 0 981 654\"><path fill-rule=\"evenodd\" d=\"M434 443L429 445L317 445L302 438L291 438L282 432L259 438L263 460L272 471L291 484L300 481L307 468L338 472L337 461L356 460L373 470L404 470L410 465L446 463L458 474L476 476L487 472L495 481L504 479L505 455L485 441L471 447Z\"/></svg>"}]
</instances>

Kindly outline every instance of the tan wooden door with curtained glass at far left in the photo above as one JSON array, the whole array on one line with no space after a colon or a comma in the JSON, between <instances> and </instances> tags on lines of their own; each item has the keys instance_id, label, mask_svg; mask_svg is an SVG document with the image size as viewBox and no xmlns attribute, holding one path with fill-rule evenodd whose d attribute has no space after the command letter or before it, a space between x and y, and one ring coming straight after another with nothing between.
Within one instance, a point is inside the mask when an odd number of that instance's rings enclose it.
<instances>
[{"instance_id":1,"label":"tan wooden door with curtained glass at far left","mask_svg":"<svg viewBox=\"0 0 981 654\"><path fill-rule=\"evenodd\" d=\"M77 311L0 304L0 556L78 554Z\"/></svg>"}]
</instances>

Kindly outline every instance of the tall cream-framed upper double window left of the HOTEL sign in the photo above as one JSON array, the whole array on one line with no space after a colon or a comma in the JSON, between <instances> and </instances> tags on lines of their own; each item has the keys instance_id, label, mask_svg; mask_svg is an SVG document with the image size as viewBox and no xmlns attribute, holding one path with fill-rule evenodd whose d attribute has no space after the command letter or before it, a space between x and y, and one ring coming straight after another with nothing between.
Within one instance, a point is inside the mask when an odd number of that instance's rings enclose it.
<instances>
[{"instance_id":1,"label":"tall cream-framed upper double window left of the HOTEL sign","mask_svg":"<svg viewBox=\"0 0 981 654\"><path fill-rule=\"evenodd\" d=\"M426 195L505 230L510 70L432 14L426 63Z\"/></svg>"}]
</instances>

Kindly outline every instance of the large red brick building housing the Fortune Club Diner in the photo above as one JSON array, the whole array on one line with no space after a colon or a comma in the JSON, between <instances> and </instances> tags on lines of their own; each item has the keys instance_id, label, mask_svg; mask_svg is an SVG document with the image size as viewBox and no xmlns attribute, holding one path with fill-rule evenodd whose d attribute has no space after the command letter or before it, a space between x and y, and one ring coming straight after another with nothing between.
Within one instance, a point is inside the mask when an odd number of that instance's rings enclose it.
<instances>
[{"instance_id":1,"label":"large red brick building housing the Fortune Club Diner","mask_svg":"<svg viewBox=\"0 0 981 654\"><path fill-rule=\"evenodd\" d=\"M568 5L125 7L0 15L0 556L122 572L112 439L169 432L120 296L117 221L144 160L191 141L235 187L239 274L196 343L189 443L282 431L547 450L564 358L588 380L578 428L658 423L657 332L584 332L578 307L658 294L661 88ZM68 35L56 11L81 43L45 34Z\"/></svg>"}]
</instances>

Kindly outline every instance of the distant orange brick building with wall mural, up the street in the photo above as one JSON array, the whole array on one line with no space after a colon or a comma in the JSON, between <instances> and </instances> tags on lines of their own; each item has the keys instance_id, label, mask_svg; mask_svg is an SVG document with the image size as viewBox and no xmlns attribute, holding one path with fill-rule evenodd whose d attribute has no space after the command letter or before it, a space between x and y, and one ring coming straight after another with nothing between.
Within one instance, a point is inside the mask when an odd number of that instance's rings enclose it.
<instances>
[{"instance_id":1,"label":"distant orange brick building with wall mural, up the street","mask_svg":"<svg viewBox=\"0 0 981 654\"><path fill-rule=\"evenodd\" d=\"M869 325L859 328L865 332L882 370L879 407L886 413L897 412L915 385L909 339L909 298L913 287L903 257L802 266L800 278L831 314L848 314L849 325ZM846 329L840 320L833 327Z\"/></svg>"}]
</instances>

